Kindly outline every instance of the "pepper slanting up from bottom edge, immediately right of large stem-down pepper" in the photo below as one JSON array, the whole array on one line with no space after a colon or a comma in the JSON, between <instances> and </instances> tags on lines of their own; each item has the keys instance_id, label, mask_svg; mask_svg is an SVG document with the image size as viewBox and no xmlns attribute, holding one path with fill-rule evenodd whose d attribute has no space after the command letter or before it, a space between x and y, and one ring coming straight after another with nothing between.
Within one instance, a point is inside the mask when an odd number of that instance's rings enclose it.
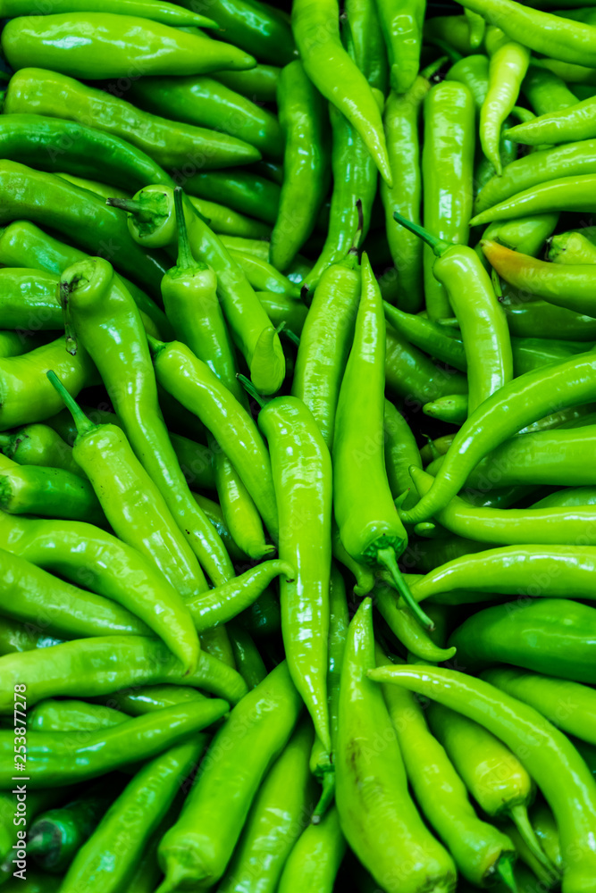
<instances>
[{"instance_id":1,"label":"pepper slanting up from bottom edge, immediately right of large stem-down pepper","mask_svg":"<svg viewBox=\"0 0 596 893\"><path fill-rule=\"evenodd\" d=\"M266 775L221 883L220 893L274 893L284 863L306 826L313 780L313 727L303 720Z\"/></svg>"}]
</instances>

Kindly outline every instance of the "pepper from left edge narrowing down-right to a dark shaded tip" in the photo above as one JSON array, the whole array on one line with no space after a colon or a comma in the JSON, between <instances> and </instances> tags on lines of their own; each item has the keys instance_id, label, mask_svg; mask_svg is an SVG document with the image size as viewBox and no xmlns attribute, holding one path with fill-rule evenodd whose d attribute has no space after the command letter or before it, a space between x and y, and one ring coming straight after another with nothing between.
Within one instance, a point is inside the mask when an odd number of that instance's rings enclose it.
<instances>
[{"instance_id":1,"label":"pepper from left edge narrowing down-right to a dark shaded tip","mask_svg":"<svg viewBox=\"0 0 596 893\"><path fill-rule=\"evenodd\" d=\"M135 246L123 215L106 207L99 196L53 174L10 161L0 163L0 196L1 223L27 217L88 251L105 251L109 245L116 266L155 294L165 272L161 258Z\"/></svg>"}]
</instances>

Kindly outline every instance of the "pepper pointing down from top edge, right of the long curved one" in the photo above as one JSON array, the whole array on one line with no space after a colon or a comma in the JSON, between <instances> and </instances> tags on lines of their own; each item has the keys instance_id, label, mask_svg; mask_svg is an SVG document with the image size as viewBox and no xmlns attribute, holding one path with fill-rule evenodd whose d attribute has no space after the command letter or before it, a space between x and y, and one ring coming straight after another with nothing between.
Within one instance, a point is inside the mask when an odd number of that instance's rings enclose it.
<instances>
[{"instance_id":1,"label":"pepper pointing down from top edge, right of the long curved one","mask_svg":"<svg viewBox=\"0 0 596 893\"><path fill-rule=\"evenodd\" d=\"M425 0L415 4L375 0L375 4L389 56L391 88L398 94L407 93L420 68Z\"/></svg>"}]
</instances>

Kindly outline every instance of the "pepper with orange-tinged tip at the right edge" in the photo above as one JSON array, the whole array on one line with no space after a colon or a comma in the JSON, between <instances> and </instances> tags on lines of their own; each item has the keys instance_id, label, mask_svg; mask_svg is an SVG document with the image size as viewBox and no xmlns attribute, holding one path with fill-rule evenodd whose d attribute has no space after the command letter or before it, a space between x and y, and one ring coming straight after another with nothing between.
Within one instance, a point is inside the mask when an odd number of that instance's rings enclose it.
<instances>
[{"instance_id":1,"label":"pepper with orange-tinged tip at the right edge","mask_svg":"<svg viewBox=\"0 0 596 893\"><path fill-rule=\"evenodd\" d=\"M541 297L559 307L596 316L596 289L592 285L592 264L561 266L483 239L484 255L494 270L514 288Z\"/></svg>"}]
</instances>

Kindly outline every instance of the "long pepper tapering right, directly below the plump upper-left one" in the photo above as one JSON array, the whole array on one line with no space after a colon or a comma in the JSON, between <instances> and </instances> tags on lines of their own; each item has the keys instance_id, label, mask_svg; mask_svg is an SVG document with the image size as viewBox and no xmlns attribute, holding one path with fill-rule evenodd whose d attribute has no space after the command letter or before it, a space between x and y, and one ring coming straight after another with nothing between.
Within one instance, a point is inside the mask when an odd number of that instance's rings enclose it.
<instances>
[{"instance_id":1,"label":"long pepper tapering right, directly below the plump upper-left one","mask_svg":"<svg viewBox=\"0 0 596 893\"><path fill-rule=\"evenodd\" d=\"M140 150L150 156L155 165L169 169L187 163L206 168L228 167L254 162L261 157L254 146L226 133L142 112L119 96L117 89L108 93L87 87L67 74L39 68L24 68L13 76L4 101L4 112L36 113L84 123L102 134L95 138L97 146L109 145L109 137L121 138L132 144L133 152ZM66 129L64 124L62 129ZM93 151L95 153L95 147ZM77 150L77 154L79 152ZM105 154L105 148L102 154ZM120 154L126 159L131 153L123 149ZM161 168L157 172L159 179L153 182L172 182ZM147 180L143 185L147 185Z\"/></svg>"}]
</instances>

